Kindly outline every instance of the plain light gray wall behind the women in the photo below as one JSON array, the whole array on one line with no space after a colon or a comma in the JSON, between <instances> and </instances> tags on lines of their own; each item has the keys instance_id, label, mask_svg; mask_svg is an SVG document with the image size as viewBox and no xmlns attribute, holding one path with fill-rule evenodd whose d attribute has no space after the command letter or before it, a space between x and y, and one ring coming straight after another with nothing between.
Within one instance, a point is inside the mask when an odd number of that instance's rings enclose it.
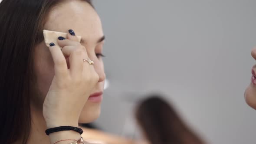
<instances>
[{"instance_id":1,"label":"plain light gray wall behind the women","mask_svg":"<svg viewBox=\"0 0 256 144\"><path fill-rule=\"evenodd\" d=\"M106 35L103 130L136 136L133 107L161 92L210 144L255 144L243 92L256 0L93 0Z\"/></svg>"}]
</instances>

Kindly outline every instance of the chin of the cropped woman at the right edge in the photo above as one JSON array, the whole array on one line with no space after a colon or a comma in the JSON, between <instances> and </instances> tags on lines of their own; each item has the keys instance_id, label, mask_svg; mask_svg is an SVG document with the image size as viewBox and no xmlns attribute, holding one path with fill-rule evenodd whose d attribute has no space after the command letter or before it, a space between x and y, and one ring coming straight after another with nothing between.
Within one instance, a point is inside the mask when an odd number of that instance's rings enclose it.
<instances>
[{"instance_id":1,"label":"chin of the cropped woman at the right edge","mask_svg":"<svg viewBox=\"0 0 256 144\"><path fill-rule=\"evenodd\" d=\"M244 93L244 98L246 103L256 109L256 92L254 92L253 88L251 88L250 86L246 89L245 93Z\"/></svg>"}]
</instances>

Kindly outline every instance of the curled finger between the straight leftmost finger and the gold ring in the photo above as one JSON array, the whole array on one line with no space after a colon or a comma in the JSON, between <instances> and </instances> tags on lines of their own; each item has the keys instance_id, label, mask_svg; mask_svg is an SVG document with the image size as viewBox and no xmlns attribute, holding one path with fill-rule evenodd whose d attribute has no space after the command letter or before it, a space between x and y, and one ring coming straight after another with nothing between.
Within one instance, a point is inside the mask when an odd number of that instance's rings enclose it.
<instances>
[{"instance_id":1,"label":"curled finger between the straight leftmost finger and the gold ring","mask_svg":"<svg viewBox=\"0 0 256 144\"><path fill-rule=\"evenodd\" d=\"M75 49L67 49L67 51L68 50L70 50L69 66L71 75L81 76L83 70L83 59L87 59L87 53L85 52L83 46L79 46Z\"/></svg>"}]
</instances>

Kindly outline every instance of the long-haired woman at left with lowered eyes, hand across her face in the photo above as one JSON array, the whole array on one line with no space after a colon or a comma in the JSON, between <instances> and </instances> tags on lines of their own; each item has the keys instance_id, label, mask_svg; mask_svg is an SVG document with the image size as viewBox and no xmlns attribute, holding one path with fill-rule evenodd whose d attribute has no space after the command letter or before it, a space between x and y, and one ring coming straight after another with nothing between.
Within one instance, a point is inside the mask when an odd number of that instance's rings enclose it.
<instances>
[{"instance_id":1,"label":"long-haired woman at left with lowered eyes, hand across her face","mask_svg":"<svg viewBox=\"0 0 256 144\"><path fill-rule=\"evenodd\" d=\"M43 29L68 33L46 46ZM82 36L81 43L76 36ZM69 144L100 114L104 34L90 0L0 3L0 143ZM87 59L87 61L85 61ZM89 62L92 60L94 65ZM62 141L64 140L64 141Z\"/></svg>"}]
</instances>

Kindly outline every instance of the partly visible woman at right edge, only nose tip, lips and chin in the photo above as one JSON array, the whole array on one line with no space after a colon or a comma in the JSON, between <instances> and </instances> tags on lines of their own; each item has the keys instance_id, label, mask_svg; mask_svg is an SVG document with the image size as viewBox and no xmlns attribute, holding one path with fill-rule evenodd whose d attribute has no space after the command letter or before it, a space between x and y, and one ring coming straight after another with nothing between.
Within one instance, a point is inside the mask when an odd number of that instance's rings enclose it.
<instances>
[{"instance_id":1,"label":"partly visible woman at right edge, only nose tip, lips and chin","mask_svg":"<svg viewBox=\"0 0 256 144\"><path fill-rule=\"evenodd\" d=\"M256 60L256 48L252 50L251 55L253 56L253 59ZM256 65L254 65L252 68L251 83L246 88L246 91L244 92L244 97L247 104L250 107L256 109Z\"/></svg>"}]
</instances>

